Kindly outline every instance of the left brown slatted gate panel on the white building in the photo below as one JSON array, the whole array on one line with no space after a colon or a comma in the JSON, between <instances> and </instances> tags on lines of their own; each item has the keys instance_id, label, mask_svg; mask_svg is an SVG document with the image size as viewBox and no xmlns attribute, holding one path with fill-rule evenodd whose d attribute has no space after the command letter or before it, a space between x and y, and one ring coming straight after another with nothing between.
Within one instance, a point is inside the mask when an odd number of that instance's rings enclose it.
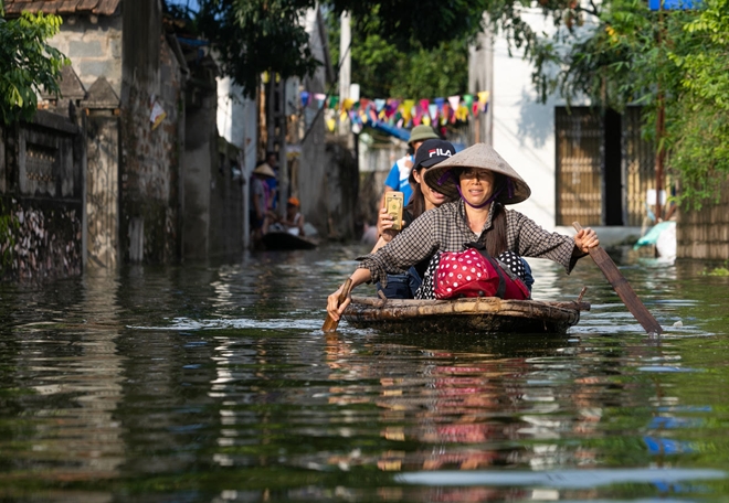
<instances>
[{"instance_id":1,"label":"left brown slatted gate panel on the white building","mask_svg":"<svg viewBox=\"0 0 729 503\"><path fill-rule=\"evenodd\" d=\"M557 225L602 223L602 125L587 107L556 107Z\"/></svg>"}]
</instances>

